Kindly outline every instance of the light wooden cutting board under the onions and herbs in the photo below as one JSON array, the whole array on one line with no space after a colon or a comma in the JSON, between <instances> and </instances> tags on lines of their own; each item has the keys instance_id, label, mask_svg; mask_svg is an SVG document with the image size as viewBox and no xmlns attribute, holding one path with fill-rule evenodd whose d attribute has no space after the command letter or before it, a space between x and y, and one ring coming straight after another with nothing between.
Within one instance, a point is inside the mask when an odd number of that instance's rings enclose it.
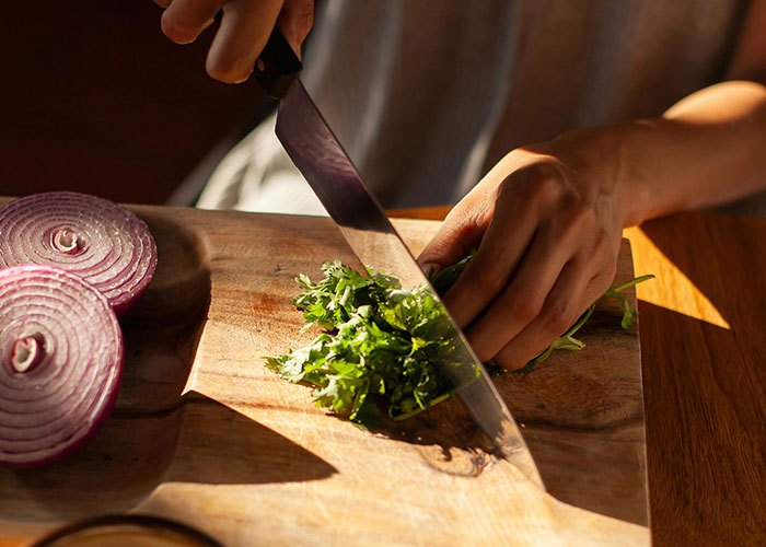
<instances>
[{"instance_id":1,"label":"light wooden cutting board under the onions and herbs","mask_svg":"<svg viewBox=\"0 0 766 547\"><path fill-rule=\"evenodd\" d=\"M115 411L69 461L0 469L0 537L135 512L232 547L649 545L638 329L620 328L616 304L583 328L584 350L496 380L546 493L457 401L370 432L264 368L315 335L300 333L294 277L335 258L359 267L328 219L134 210L160 263L123 322ZM438 223L396 225L417 254ZM630 277L624 243L616 281Z\"/></svg>"}]
</instances>

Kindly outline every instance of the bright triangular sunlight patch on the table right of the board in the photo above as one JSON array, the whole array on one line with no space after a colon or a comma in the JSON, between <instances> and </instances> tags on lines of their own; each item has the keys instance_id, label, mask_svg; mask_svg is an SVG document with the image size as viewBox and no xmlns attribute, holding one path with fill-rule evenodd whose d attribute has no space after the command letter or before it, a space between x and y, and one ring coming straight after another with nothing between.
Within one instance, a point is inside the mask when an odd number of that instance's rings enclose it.
<instances>
[{"instance_id":1,"label":"bright triangular sunlight patch on the table right of the board","mask_svg":"<svg viewBox=\"0 0 766 547\"><path fill-rule=\"evenodd\" d=\"M662 282L646 281L636 287L638 300L671 310L721 328L730 329L710 300L668 258L639 226L628 228L636 275L653 274Z\"/></svg>"}]
</instances>

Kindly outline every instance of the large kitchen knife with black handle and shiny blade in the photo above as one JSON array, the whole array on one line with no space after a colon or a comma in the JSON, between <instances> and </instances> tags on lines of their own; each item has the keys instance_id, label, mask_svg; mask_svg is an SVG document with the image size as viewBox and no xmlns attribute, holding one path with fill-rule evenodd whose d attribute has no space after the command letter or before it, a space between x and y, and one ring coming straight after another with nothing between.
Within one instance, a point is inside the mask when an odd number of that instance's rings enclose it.
<instances>
[{"instance_id":1,"label":"large kitchen knife with black handle and shiny blade","mask_svg":"<svg viewBox=\"0 0 766 547\"><path fill-rule=\"evenodd\" d=\"M264 90L279 101L279 141L361 264L397 277L404 289L427 292L442 306L454 339L451 362L438 363L441 372L451 380L453 392L500 454L524 477L544 488L521 431L495 384L303 88L301 70L301 61L275 27L254 74Z\"/></svg>"}]
</instances>

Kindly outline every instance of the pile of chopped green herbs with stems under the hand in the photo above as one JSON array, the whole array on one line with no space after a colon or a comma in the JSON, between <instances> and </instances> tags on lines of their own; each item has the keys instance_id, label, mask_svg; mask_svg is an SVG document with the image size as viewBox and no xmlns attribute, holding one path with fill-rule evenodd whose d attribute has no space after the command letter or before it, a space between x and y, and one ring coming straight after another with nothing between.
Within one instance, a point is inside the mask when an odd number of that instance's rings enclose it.
<instances>
[{"instance_id":1,"label":"pile of chopped green herbs with stems under the hand","mask_svg":"<svg viewBox=\"0 0 766 547\"><path fill-rule=\"evenodd\" d=\"M472 257L429 274L438 293L454 283ZM304 348L265 358L269 369L290 382L314 386L317 406L365 428L378 423L381 404L391 418L401 420L451 396L451 382L440 365L451 361L455 330L428 289L407 291L392 276L369 269L363 276L339 260L322 269L325 277L320 281L303 274L297 278L304 292L293 304L303 312L304 329L318 325L324 331ZM620 291L651 277L613 287L599 299L622 303L623 328L630 328L636 312ZM582 349L574 334L594 307L595 303L519 372L531 372L556 349ZM491 364L489 369L492 374L504 372Z\"/></svg>"}]
</instances>

